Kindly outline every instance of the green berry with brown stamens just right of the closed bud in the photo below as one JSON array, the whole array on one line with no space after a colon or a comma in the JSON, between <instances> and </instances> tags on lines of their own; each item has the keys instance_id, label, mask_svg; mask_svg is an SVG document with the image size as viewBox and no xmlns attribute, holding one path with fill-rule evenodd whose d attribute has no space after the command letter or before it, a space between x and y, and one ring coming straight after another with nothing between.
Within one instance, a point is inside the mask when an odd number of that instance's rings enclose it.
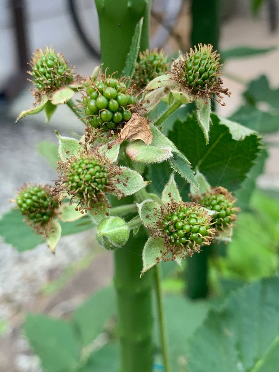
<instances>
[{"instance_id":1,"label":"green berry with brown stamens just right of the closed bud","mask_svg":"<svg viewBox=\"0 0 279 372\"><path fill-rule=\"evenodd\" d=\"M161 207L160 217L151 226L151 234L165 240L161 258L169 260L171 254L172 260L178 256L185 259L199 252L202 245L209 245L215 233L211 218L199 204L171 199L167 207Z\"/></svg>"}]
</instances>

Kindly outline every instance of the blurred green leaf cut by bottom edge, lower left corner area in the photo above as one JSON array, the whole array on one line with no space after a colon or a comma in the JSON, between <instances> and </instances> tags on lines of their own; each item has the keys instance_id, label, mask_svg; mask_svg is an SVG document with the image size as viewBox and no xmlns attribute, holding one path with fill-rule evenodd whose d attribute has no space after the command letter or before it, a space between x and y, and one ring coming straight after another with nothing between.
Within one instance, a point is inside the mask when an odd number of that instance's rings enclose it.
<instances>
[{"instance_id":1,"label":"blurred green leaf cut by bottom edge, lower left corner area","mask_svg":"<svg viewBox=\"0 0 279 372\"><path fill-rule=\"evenodd\" d=\"M71 324L45 315L28 314L24 331L45 372L76 371L80 346Z\"/></svg>"}]
</instances>

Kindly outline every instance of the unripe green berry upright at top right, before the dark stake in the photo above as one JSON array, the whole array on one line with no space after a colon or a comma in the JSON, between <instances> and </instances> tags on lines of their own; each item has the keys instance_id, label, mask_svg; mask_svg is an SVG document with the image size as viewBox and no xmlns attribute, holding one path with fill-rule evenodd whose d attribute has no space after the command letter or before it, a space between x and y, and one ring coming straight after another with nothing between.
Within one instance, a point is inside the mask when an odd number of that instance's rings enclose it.
<instances>
[{"instance_id":1,"label":"unripe green berry upright at top right, before the dark stake","mask_svg":"<svg viewBox=\"0 0 279 372\"><path fill-rule=\"evenodd\" d=\"M212 51L212 45L199 44L191 49L185 60L185 81L190 90L198 92L215 84L219 74L219 55Z\"/></svg>"}]
</instances>

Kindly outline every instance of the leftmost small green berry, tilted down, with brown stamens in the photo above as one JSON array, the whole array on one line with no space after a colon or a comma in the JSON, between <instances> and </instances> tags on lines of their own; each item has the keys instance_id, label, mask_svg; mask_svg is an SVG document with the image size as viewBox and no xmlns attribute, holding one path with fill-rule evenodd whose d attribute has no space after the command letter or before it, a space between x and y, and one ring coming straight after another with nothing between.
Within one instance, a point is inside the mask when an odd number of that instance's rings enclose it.
<instances>
[{"instance_id":1,"label":"leftmost small green berry, tilted down, with brown stamens","mask_svg":"<svg viewBox=\"0 0 279 372\"><path fill-rule=\"evenodd\" d=\"M58 196L51 195L51 186L24 184L13 202L29 226L46 238L52 231L52 221L60 213Z\"/></svg>"}]
</instances>

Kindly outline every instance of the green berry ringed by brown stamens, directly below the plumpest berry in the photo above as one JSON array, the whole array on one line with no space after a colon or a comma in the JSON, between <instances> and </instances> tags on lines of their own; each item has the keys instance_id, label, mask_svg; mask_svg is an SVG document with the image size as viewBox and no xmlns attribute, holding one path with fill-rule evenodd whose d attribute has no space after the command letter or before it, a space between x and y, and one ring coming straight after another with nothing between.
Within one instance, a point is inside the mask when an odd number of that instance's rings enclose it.
<instances>
[{"instance_id":1,"label":"green berry ringed by brown stamens, directly below the plumpest berry","mask_svg":"<svg viewBox=\"0 0 279 372\"><path fill-rule=\"evenodd\" d=\"M78 203L77 210L83 213L94 208L94 204L105 202L106 192L123 196L117 188L118 176L123 170L115 166L97 151L79 151L77 156L68 158L58 164L57 171L61 173L52 195L67 194L71 201Z\"/></svg>"}]
</instances>

